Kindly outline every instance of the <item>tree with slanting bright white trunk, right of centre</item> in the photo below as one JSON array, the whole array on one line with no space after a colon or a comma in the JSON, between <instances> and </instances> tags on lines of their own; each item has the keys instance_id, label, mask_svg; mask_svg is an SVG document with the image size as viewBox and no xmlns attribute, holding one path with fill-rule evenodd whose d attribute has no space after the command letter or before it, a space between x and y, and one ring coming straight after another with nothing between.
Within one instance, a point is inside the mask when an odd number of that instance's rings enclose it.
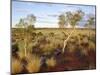
<instances>
[{"instance_id":1,"label":"tree with slanting bright white trunk, right of centre","mask_svg":"<svg viewBox=\"0 0 100 75\"><path fill-rule=\"evenodd\" d=\"M64 40L64 46L62 49L62 53L64 53L64 50L65 50L65 47L67 45L69 38L75 32L75 26L78 24L79 21L82 20L83 16L84 16L84 12L82 12L81 10L77 10L75 12L66 12L67 24L69 23L72 26L73 30L70 32L70 34L68 34L68 37Z\"/></svg>"}]
</instances>

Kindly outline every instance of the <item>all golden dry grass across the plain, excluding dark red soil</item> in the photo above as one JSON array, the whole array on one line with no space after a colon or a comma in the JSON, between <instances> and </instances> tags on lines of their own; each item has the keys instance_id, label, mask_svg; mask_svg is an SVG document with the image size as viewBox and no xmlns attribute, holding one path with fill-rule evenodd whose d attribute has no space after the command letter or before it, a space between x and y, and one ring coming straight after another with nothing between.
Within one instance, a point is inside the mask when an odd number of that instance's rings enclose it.
<instances>
[{"instance_id":1,"label":"all golden dry grass across the plain, excluding dark red soil","mask_svg":"<svg viewBox=\"0 0 100 75\"><path fill-rule=\"evenodd\" d=\"M49 69L51 69L52 67L55 68L56 66L58 66L57 64L59 63L57 61L59 60L59 58L51 57L51 56L56 56L57 53L60 54L59 50L62 50L64 40L68 37L68 34L72 30L65 29L64 33L61 33L62 31L63 30L61 29L60 30L55 29L55 30L52 30L52 33L50 33L51 29L50 30L37 29L36 33L38 34L39 32L42 32L43 35L39 33L38 35L36 35L35 39L32 40L32 42L29 42L30 45L28 45L29 48L27 48L27 56L25 56L24 54L25 53L24 43L20 42L18 56L20 60L25 59L25 61L27 62L24 65L25 65L25 68L28 70L28 73L41 72L40 68L41 70L42 68L44 69L43 67L44 64L41 67L42 63L45 63L47 65L47 68ZM88 56L88 53L89 53L88 50L92 50L95 52L95 35L89 36L88 30L76 30L76 32L74 33L75 34L73 34L67 42L65 53L71 53L72 55L75 54L77 55L76 57L80 56L78 58L81 58L81 56L82 57ZM31 47L33 47L33 49ZM42 55L47 55L45 60L43 59L44 60L43 62L41 61ZM65 59L65 58L62 58L62 59ZM70 58L68 59L70 60ZM23 63L21 63L19 60L16 60L14 62L12 61L12 63L13 63L12 65L14 65L12 68L13 73L16 73L16 72L19 73L22 71ZM14 63L17 63L17 65Z\"/></svg>"}]
</instances>

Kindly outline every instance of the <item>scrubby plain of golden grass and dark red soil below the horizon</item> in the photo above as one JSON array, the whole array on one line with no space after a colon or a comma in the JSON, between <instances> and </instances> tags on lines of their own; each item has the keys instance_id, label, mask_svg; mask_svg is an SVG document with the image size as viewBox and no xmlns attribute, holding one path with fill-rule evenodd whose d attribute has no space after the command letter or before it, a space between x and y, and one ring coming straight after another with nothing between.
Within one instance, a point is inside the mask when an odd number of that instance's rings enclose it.
<instances>
[{"instance_id":1,"label":"scrubby plain of golden grass and dark red soil below the horizon","mask_svg":"<svg viewBox=\"0 0 100 75\"><path fill-rule=\"evenodd\" d=\"M13 30L13 34L17 32L17 29ZM50 68L55 68L55 71L64 64L63 70L74 70L79 68L80 66L78 64L81 63L81 69L95 68L95 30L91 29L90 36L87 34L88 31L90 30L76 29L76 34L70 37L65 47L65 52L62 54L63 42L66 36L71 32L71 29L63 29L63 33L62 29L48 29L48 31L46 29L35 29L35 32L33 32L35 33L35 38L30 42L32 51L27 50L27 56L25 56L22 42L16 42L16 47L13 45L13 50L17 48L15 52L16 55L13 55L13 57L18 57L12 61L12 72L24 73L25 70L22 70L26 69L27 71L25 72L34 73L40 72L41 70L50 71ZM68 34L65 34L66 32ZM18 35L19 32L16 34ZM17 38L18 36L13 37ZM20 39L18 40L20 41ZM27 47L27 49L30 48ZM16 66L15 63L20 67ZM77 66L73 63L76 63ZM45 69L43 68L44 64L47 66ZM22 65L25 68L23 68ZM62 70L62 68L60 69Z\"/></svg>"}]
</instances>

